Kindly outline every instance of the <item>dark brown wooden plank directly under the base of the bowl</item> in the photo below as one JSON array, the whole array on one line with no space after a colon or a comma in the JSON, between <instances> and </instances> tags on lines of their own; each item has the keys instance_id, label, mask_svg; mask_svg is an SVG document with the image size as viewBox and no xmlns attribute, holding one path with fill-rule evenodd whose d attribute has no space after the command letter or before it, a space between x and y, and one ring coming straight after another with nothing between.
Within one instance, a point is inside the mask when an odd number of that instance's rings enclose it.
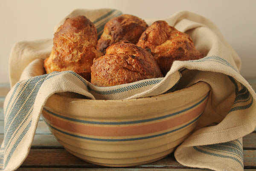
<instances>
[{"instance_id":1,"label":"dark brown wooden plank directly under the base of the bowl","mask_svg":"<svg viewBox=\"0 0 256 171\"><path fill-rule=\"evenodd\" d=\"M54 159L54 160L52 160ZM74 168L102 168L92 165L73 156L64 149L31 149L22 167L74 167ZM178 163L173 154L150 164L133 168L188 168ZM256 151L244 150L244 168L256 168Z\"/></svg>"}]
</instances>

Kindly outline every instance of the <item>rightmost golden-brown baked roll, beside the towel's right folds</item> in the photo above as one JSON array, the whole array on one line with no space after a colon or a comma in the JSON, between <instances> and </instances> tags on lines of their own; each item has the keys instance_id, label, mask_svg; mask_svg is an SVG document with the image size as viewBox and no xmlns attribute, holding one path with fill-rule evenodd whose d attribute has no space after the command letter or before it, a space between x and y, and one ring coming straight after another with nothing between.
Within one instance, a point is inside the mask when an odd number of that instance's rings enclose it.
<instances>
[{"instance_id":1,"label":"rightmost golden-brown baked roll, beside the towel's right folds","mask_svg":"<svg viewBox=\"0 0 256 171\"><path fill-rule=\"evenodd\" d=\"M196 50L189 34L177 31L166 21L155 21L141 35L137 46L149 48L165 75L175 60L198 60L203 55Z\"/></svg>"}]
</instances>

